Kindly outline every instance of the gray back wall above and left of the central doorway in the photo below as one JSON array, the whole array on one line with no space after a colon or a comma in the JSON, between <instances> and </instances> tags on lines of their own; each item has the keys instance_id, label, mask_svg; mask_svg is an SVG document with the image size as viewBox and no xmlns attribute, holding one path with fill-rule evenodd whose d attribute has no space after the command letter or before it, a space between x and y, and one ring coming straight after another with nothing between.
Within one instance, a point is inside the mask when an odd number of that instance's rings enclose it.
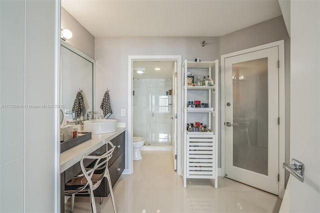
<instances>
[{"instance_id":1,"label":"gray back wall above and left of the central doorway","mask_svg":"<svg viewBox=\"0 0 320 213\"><path fill-rule=\"evenodd\" d=\"M204 47L201 40L206 41ZM127 123L120 109L128 106L128 55L182 55L182 60L214 60L219 58L219 40L216 37L109 37L95 38L95 110L103 93L110 89L113 113L110 118ZM127 159L127 158L126 158Z\"/></svg>"}]
</instances>

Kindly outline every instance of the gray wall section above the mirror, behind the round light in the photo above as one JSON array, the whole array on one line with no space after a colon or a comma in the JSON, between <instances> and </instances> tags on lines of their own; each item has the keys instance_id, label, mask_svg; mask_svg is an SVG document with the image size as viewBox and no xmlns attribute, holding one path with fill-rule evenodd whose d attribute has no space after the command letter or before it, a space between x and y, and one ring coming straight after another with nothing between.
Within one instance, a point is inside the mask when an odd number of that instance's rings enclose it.
<instances>
[{"instance_id":1,"label":"gray wall section above the mirror, behind the round light","mask_svg":"<svg viewBox=\"0 0 320 213\"><path fill-rule=\"evenodd\" d=\"M66 39L75 48L94 58L94 37L61 6L61 29L70 29L72 37Z\"/></svg>"}]
</instances>

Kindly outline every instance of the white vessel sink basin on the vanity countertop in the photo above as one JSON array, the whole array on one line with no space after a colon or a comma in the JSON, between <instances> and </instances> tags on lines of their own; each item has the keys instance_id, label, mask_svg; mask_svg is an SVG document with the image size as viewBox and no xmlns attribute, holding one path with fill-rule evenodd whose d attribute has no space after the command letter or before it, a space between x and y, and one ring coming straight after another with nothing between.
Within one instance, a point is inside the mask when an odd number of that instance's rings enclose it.
<instances>
[{"instance_id":1,"label":"white vessel sink basin on the vanity countertop","mask_svg":"<svg viewBox=\"0 0 320 213\"><path fill-rule=\"evenodd\" d=\"M116 131L116 119L93 119L83 121L83 131L91 134L104 134Z\"/></svg>"}]
</instances>

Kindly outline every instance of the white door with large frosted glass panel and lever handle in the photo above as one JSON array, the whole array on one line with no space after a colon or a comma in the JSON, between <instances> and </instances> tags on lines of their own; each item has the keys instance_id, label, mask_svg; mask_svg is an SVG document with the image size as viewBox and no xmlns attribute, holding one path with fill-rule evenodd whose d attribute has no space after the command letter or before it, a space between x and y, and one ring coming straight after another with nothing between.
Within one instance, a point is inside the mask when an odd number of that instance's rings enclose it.
<instances>
[{"instance_id":1,"label":"white door with large frosted glass panel and lever handle","mask_svg":"<svg viewBox=\"0 0 320 213\"><path fill-rule=\"evenodd\" d=\"M278 47L225 58L225 173L278 194Z\"/></svg>"}]
</instances>

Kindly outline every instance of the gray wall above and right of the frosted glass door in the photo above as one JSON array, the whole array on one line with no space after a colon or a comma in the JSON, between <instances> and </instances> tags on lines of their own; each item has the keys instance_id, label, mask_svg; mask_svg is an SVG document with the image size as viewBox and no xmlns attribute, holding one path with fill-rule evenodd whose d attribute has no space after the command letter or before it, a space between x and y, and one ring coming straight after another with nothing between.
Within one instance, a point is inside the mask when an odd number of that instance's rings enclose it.
<instances>
[{"instance_id":1,"label":"gray wall above and right of the frosted glass door","mask_svg":"<svg viewBox=\"0 0 320 213\"><path fill-rule=\"evenodd\" d=\"M220 53L226 54L284 39L285 54L285 161L290 151L290 38L282 16L240 29L220 37ZM281 62L281 61L280 61ZM219 144L220 147L220 144ZM220 154L219 150L219 154ZM220 162L219 162L220 167ZM286 175L286 177L288 177ZM286 178L287 179L287 178Z\"/></svg>"}]
</instances>

